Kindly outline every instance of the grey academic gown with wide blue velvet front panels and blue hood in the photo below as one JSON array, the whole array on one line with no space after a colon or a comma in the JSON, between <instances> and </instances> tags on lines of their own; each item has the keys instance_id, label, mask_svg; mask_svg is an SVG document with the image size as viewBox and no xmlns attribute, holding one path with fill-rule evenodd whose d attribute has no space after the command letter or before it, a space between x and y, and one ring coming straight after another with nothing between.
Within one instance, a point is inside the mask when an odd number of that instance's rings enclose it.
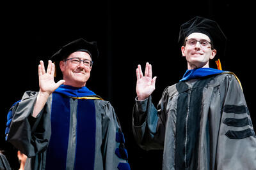
<instances>
[{"instance_id":1,"label":"grey academic gown with wide blue velvet front panels and blue hood","mask_svg":"<svg viewBox=\"0 0 256 170\"><path fill-rule=\"evenodd\" d=\"M28 156L25 169L129 169L115 111L87 87L61 85L32 117L38 92L8 113L7 141Z\"/></svg>"}]
</instances>

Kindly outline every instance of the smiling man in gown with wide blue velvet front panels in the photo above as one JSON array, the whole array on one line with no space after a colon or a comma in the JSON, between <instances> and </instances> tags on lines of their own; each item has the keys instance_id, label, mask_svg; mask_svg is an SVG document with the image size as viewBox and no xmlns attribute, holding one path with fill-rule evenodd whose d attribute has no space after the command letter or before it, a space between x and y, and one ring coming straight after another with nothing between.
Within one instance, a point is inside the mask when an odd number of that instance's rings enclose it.
<instances>
[{"instance_id":1,"label":"smiling man in gown with wide blue velvet front panels","mask_svg":"<svg viewBox=\"0 0 256 170\"><path fill-rule=\"evenodd\" d=\"M130 169L115 111L86 87L95 42L82 38L38 66L39 92L26 92L8 113L6 139L28 156L25 169ZM10 130L9 130L10 127Z\"/></svg>"}]
</instances>

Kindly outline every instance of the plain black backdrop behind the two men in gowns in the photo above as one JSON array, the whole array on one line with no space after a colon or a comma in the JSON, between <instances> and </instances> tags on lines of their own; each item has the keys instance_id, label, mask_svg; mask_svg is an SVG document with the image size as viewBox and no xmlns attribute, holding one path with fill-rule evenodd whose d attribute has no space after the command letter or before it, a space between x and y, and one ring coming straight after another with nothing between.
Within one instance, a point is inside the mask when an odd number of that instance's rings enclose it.
<instances>
[{"instance_id":1,"label":"plain black backdrop behind the two men in gowns","mask_svg":"<svg viewBox=\"0 0 256 170\"><path fill-rule=\"evenodd\" d=\"M67 1L1 5L1 122L0 150L15 167L15 149L4 141L6 115L26 90L38 90L37 67L61 46L77 38L97 41L95 60L86 86L110 101L125 134L131 169L161 169L161 150L145 151L132 136L132 107L136 97L136 67L152 64L157 76L152 94L157 104L165 87L186 71L177 43L180 24L199 15L216 20L228 38L223 70L234 72L255 127L253 107L255 15L246 1ZM214 62L210 67L216 68ZM17 164L16 164L17 165Z\"/></svg>"}]
</instances>

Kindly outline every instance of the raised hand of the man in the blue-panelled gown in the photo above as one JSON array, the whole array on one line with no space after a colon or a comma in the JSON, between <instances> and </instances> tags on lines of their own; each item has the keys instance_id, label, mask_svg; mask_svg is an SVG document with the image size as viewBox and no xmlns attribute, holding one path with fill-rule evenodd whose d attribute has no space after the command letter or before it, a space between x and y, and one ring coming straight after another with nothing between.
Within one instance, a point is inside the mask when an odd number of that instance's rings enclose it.
<instances>
[{"instance_id":1,"label":"raised hand of the man in the blue-panelled gown","mask_svg":"<svg viewBox=\"0 0 256 170\"><path fill-rule=\"evenodd\" d=\"M65 83L65 80L60 80L57 83L54 81L55 66L51 60L48 61L47 71L45 72L44 62L41 60L38 66L39 87L40 93L49 96L56 90L61 84Z\"/></svg>"}]
</instances>

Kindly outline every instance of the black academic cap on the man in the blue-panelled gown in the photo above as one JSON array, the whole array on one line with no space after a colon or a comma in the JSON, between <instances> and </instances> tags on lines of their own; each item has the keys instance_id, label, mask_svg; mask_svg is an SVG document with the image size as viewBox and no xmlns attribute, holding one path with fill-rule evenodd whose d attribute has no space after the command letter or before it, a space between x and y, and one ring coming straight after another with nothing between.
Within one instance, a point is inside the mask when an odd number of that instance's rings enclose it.
<instances>
[{"instance_id":1,"label":"black academic cap on the man in the blue-panelled gown","mask_svg":"<svg viewBox=\"0 0 256 170\"><path fill-rule=\"evenodd\" d=\"M89 53L92 59L97 58L99 55L97 43L95 41L88 42L83 38L79 38L68 43L67 45L62 46L58 52L52 55L51 60L58 62L60 60L67 59L68 55L77 51Z\"/></svg>"}]
</instances>

